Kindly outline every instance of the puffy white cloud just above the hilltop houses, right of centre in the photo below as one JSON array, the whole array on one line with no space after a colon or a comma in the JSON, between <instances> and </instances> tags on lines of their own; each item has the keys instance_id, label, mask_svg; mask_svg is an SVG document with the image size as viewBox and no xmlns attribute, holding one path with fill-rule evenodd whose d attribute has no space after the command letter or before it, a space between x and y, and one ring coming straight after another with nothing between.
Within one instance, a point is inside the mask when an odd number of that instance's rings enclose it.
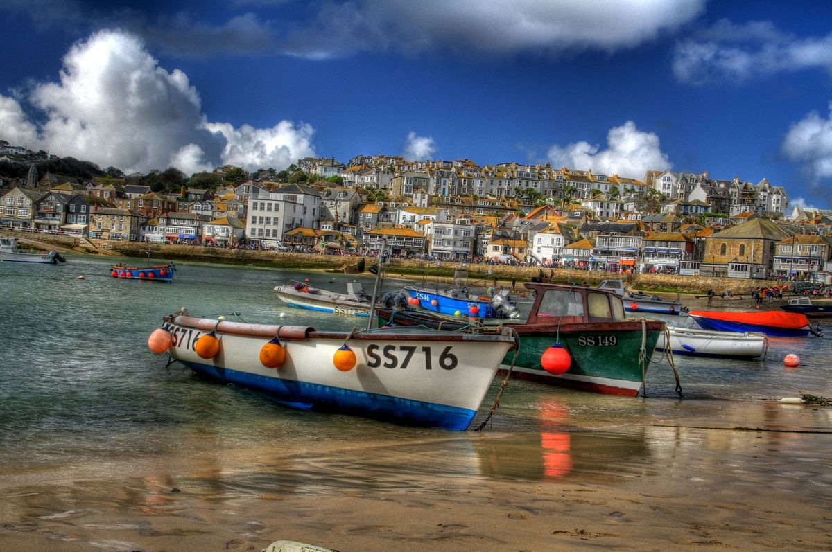
<instances>
[{"instance_id":1,"label":"puffy white cloud just above the hilltop houses, right of centre","mask_svg":"<svg viewBox=\"0 0 832 552\"><path fill-rule=\"evenodd\" d=\"M566 146L552 145L547 154L553 166L587 170L602 175L619 175L642 179L647 170L670 169L673 164L661 152L659 137L639 131L636 123L626 121L607 132L607 149L586 141Z\"/></svg>"}]
</instances>

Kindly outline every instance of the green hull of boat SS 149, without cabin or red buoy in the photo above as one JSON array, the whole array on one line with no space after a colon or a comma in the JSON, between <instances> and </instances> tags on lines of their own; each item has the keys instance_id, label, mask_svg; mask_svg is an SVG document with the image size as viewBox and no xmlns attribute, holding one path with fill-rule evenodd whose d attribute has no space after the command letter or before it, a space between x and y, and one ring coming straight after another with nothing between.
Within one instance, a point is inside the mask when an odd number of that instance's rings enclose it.
<instances>
[{"instance_id":1,"label":"green hull of boat SS 149, without cabin or red buoy","mask_svg":"<svg viewBox=\"0 0 832 552\"><path fill-rule=\"evenodd\" d=\"M469 324L463 320L432 317L428 313L391 311L379 308L381 323L422 325L456 331ZM547 383L559 387L572 387L583 391L609 395L636 396L643 387L643 377L650 364L656 340L664 329L664 323L613 322L562 324L506 323L520 338L520 352L514 358L509 352L503 359L502 370L514 362L513 373L522 379ZM488 326L483 328L488 331ZM645 341L646 362L642 373L641 341ZM572 365L567 372L553 375L543 369L541 357L552 343L567 349Z\"/></svg>"}]
</instances>

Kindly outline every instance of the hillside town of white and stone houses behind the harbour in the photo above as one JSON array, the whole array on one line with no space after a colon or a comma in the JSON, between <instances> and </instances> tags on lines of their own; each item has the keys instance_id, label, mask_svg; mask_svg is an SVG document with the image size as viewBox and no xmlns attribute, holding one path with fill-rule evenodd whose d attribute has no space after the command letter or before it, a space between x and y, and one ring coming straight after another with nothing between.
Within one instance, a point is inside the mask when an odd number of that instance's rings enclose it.
<instances>
[{"instance_id":1,"label":"hillside town of white and stone houses behind the harbour","mask_svg":"<svg viewBox=\"0 0 832 552\"><path fill-rule=\"evenodd\" d=\"M49 158L0 140L0 163L29 167L2 180L0 229L337 255L386 243L402 258L611 273L820 281L832 269L832 213L790 209L765 178L360 155L298 160L288 182L223 166L210 186L171 191L118 171L41 174Z\"/></svg>"}]
</instances>

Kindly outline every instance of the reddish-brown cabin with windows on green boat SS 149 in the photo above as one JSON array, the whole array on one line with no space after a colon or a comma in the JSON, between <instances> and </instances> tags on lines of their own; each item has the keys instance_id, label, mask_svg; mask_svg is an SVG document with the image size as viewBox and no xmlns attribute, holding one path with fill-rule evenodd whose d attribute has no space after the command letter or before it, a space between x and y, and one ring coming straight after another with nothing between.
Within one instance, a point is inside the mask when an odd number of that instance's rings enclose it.
<instances>
[{"instance_id":1,"label":"reddish-brown cabin with windows on green boat SS 149","mask_svg":"<svg viewBox=\"0 0 832 552\"><path fill-rule=\"evenodd\" d=\"M622 322L622 298L612 290L578 288L559 283L525 283L535 292L527 324Z\"/></svg>"}]
</instances>

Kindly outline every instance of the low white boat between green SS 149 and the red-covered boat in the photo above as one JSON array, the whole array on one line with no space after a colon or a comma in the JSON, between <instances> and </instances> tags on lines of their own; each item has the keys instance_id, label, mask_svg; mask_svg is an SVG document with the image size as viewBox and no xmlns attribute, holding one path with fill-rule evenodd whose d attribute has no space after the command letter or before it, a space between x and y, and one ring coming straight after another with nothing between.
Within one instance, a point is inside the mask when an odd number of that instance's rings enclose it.
<instances>
[{"instance_id":1,"label":"low white boat between green SS 149 and the red-covered boat","mask_svg":"<svg viewBox=\"0 0 832 552\"><path fill-rule=\"evenodd\" d=\"M716 332L695 328L671 328L670 348L674 354L701 357L744 357L762 356L765 351L765 335L762 333ZM659 334L656 349L663 351L666 346L665 333Z\"/></svg>"}]
</instances>

